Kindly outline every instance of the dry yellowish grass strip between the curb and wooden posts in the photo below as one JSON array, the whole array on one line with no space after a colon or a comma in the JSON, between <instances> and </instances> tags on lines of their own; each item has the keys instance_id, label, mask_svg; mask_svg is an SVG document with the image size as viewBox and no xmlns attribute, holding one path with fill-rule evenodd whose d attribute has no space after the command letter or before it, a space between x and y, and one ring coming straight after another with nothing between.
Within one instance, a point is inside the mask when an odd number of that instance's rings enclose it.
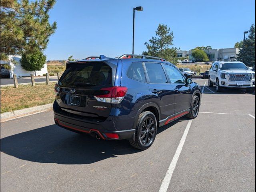
<instances>
[{"instance_id":1,"label":"dry yellowish grass strip between the curb and wooden posts","mask_svg":"<svg viewBox=\"0 0 256 192\"><path fill-rule=\"evenodd\" d=\"M19 85L18 88L1 87L1 114L14 110L54 102L54 84Z\"/></svg>"}]
</instances>

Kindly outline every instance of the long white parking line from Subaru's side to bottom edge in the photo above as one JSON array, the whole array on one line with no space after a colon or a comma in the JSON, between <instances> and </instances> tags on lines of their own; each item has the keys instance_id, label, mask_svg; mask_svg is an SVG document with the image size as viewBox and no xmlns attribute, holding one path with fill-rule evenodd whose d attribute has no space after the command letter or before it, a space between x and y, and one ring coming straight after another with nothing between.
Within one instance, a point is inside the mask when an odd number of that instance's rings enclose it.
<instances>
[{"instance_id":1,"label":"long white parking line from Subaru's side to bottom edge","mask_svg":"<svg viewBox=\"0 0 256 192\"><path fill-rule=\"evenodd\" d=\"M172 162L171 162L171 164L170 164L170 166L168 168L168 171L166 172L164 180L162 181L162 184L161 184L159 192L166 192L167 189L168 189L168 186L169 186L171 178L172 178L172 173L173 173L173 171L174 171L174 169L176 167L176 164L178 162L178 159L179 159L179 156L180 156L180 152L182 150L182 147L183 147L184 142L186 140L186 137L188 135L188 130L189 130L190 126L191 126L191 123L192 123L192 119L188 121L186 129L185 129L185 131L184 131L184 133L182 135L182 138L180 140L180 144L179 144L178 148L176 149L176 152L175 152L175 154L174 154L174 156L172 158Z\"/></svg>"}]
</instances>

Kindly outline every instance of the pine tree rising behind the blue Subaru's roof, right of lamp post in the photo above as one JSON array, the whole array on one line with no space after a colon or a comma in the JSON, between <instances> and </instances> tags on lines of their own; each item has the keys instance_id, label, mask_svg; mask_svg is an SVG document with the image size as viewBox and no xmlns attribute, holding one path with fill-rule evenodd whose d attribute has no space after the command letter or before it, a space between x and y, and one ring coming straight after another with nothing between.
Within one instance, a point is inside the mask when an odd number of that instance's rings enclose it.
<instances>
[{"instance_id":1,"label":"pine tree rising behind the blue Subaru's roof, right of lamp post","mask_svg":"<svg viewBox=\"0 0 256 192\"><path fill-rule=\"evenodd\" d=\"M171 47L173 41L173 32L170 32L170 28L167 25L159 24L156 30L156 37L152 37L148 42L145 42L148 51L143 52L149 56L160 57L176 64L178 62L177 48Z\"/></svg>"}]
</instances>

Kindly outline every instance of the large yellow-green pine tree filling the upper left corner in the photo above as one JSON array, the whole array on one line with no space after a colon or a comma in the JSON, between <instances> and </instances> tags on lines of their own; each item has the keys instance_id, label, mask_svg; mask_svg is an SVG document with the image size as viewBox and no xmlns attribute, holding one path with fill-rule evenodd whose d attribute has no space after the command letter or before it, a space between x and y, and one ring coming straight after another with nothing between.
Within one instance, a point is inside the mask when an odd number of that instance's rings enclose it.
<instances>
[{"instance_id":1,"label":"large yellow-green pine tree filling the upper left corner","mask_svg":"<svg viewBox=\"0 0 256 192\"><path fill-rule=\"evenodd\" d=\"M56 22L48 21L54 4L55 0L1 0L1 60L46 48L57 28Z\"/></svg>"}]
</instances>

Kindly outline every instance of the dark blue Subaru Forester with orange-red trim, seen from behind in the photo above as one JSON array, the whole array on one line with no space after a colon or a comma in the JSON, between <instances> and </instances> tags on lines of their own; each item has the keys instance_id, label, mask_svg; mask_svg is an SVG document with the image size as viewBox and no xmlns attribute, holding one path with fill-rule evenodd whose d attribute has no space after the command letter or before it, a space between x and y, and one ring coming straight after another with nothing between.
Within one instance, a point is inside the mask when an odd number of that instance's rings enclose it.
<instances>
[{"instance_id":1,"label":"dark blue Subaru Forester with orange-red trim, seen from behind","mask_svg":"<svg viewBox=\"0 0 256 192\"><path fill-rule=\"evenodd\" d=\"M200 86L162 58L123 55L68 62L55 86L55 123L98 139L149 148L159 126L196 118Z\"/></svg>"}]
</instances>

